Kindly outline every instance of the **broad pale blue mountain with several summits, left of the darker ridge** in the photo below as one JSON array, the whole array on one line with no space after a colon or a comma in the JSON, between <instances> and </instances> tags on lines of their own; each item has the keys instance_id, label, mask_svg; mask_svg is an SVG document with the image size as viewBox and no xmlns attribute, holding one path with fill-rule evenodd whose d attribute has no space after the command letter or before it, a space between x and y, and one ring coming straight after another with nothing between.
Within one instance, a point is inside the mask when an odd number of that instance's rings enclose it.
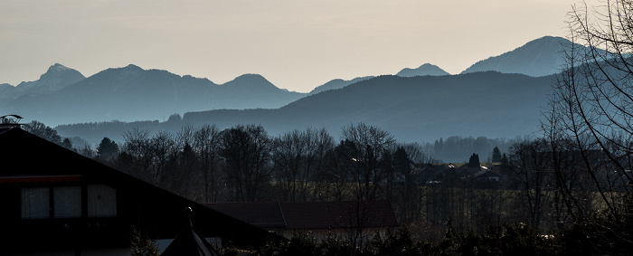
<instances>
[{"instance_id":1,"label":"broad pale blue mountain with several summits, left of the darker ridge","mask_svg":"<svg viewBox=\"0 0 633 256\"><path fill-rule=\"evenodd\" d=\"M43 81L62 81L49 75L52 69L40 81L32 82L37 86L28 86L34 89ZM113 119L165 119L173 113L208 109L279 108L304 95L279 90L260 75L243 75L218 85L207 79L128 65L100 71L49 93L22 94L0 106L9 113L54 126Z\"/></svg>"}]
</instances>

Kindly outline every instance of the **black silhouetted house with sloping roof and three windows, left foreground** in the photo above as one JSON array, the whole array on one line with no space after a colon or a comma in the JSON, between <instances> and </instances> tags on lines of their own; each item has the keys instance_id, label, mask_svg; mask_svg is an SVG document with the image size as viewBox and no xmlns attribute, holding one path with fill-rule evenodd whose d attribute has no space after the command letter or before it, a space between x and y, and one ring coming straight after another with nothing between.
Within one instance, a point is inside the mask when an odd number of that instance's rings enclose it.
<instances>
[{"instance_id":1,"label":"black silhouetted house with sloping roof and three windows, left foreground","mask_svg":"<svg viewBox=\"0 0 633 256\"><path fill-rule=\"evenodd\" d=\"M277 236L80 156L0 127L0 254L129 255L133 228L170 242L191 207L196 230L238 248ZM36 245L36 246L33 246Z\"/></svg>"}]
</instances>

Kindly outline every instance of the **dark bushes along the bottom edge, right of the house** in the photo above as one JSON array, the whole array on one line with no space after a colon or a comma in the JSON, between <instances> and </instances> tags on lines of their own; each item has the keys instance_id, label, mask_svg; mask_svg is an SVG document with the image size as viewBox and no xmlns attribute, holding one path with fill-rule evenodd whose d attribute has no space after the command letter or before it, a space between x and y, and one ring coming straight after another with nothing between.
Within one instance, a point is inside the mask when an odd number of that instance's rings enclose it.
<instances>
[{"instance_id":1,"label":"dark bushes along the bottom edge, right of the house","mask_svg":"<svg viewBox=\"0 0 633 256\"><path fill-rule=\"evenodd\" d=\"M326 240L317 241L309 234L298 233L283 242L269 242L257 251L242 251L250 255L627 255L625 243L609 236L607 229L626 229L592 223L570 226L562 232L540 234L524 223L488 226L485 232L472 230L458 232L450 222L444 238L439 242L415 241L407 227L400 227L383 234L376 233L373 241L364 247L354 246L344 239L330 234ZM620 246L624 245L624 246ZM223 255L237 255L238 251L227 248Z\"/></svg>"}]
</instances>

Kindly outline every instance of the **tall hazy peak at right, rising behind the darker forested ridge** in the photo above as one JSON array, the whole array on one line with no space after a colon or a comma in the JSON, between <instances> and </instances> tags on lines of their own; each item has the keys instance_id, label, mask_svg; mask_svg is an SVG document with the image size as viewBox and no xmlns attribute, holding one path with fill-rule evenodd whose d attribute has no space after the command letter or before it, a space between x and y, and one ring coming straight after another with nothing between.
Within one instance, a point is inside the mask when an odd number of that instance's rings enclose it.
<instances>
[{"instance_id":1,"label":"tall hazy peak at right, rising behind the darker forested ridge","mask_svg":"<svg viewBox=\"0 0 633 256\"><path fill-rule=\"evenodd\" d=\"M571 45L571 42L562 37L544 36L511 52L477 62L462 73L499 71L529 76L558 73L564 61L562 45Z\"/></svg>"}]
</instances>

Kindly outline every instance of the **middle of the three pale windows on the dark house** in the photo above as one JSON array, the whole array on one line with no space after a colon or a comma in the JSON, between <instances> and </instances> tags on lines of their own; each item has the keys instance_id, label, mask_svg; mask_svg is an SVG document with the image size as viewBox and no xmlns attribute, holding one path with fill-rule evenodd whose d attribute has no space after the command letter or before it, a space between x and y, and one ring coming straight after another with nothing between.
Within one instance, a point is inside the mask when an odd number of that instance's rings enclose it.
<instances>
[{"instance_id":1,"label":"middle of the three pale windows on the dark house","mask_svg":"<svg viewBox=\"0 0 633 256\"><path fill-rule=\"evenodd\" d=\"M55 218L81 217L81 187L54 187L52 194L54 195Z\"/></svg>"}]
</instances>

